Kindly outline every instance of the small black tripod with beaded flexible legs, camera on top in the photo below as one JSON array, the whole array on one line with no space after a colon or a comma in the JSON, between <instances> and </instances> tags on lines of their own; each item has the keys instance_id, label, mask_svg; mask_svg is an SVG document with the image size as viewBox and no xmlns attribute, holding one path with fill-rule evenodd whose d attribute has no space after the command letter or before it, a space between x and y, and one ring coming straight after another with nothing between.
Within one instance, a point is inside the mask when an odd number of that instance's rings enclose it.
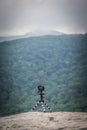
<instances>
[{"instance_id":1,"label":"small black tripod with beaded flexible legs, camera on top","mask_svg":"<svg viewBox=\"0 0 87 130\"><path fill-rule=\"evenodd\" d=\"M43 112L46 112L46 109L49 111L49 112L52 112L51 108L49 107L49 105L44 101L44 86L38 86L38 90L39 90L39 95L40 95L40 100L36 103L36 105L32 108L32 110L36 110L36 108L38 106L41 106L42 107L42 110Z\"/></svg>"}]
</instances>

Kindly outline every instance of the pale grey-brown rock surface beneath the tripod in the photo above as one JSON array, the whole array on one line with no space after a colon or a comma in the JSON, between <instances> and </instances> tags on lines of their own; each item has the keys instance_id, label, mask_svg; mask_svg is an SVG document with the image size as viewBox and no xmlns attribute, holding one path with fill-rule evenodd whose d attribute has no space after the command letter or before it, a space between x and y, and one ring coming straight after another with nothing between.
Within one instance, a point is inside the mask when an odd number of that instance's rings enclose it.
<instances>
[{"instance_id":1,"label":"pale grey-brown rock surface beneath the tripod","mask_svg":"<svg viewBox=\"0 0 87 130\"><path fill-rule=\"evenodd\" d=\"M0 130L87 130L87 113L28 112L0 117Z\"/></svg>"}]
</instances>

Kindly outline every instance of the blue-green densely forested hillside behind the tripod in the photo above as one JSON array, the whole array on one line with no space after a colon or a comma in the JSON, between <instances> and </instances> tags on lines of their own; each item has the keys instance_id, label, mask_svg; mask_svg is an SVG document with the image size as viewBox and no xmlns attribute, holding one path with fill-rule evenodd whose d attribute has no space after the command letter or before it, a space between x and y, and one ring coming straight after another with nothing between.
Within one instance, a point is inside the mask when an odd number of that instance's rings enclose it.
<instances>
[{"instance_id":1,"label":"blue-green densely forested hillside behind the tripod","mask_svg":"<svg viewBox=\"0 0 87 130\"><path fill-rule=\"evenodd\" d=\"M0 43L0 116L30 111L38 85L53 111L87 112L87 35Z\"/></svg>"}]
</instances>

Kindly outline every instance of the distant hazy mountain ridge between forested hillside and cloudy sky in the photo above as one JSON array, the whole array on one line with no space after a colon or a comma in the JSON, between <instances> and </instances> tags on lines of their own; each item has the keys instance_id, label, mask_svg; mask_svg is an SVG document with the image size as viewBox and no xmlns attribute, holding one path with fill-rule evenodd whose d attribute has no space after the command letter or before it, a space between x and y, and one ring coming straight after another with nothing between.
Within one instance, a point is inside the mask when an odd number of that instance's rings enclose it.
<instances>
[{"instance_id":1,"label":"distant hazy mountain ridge between forested hillside and cloudy sky","mask_svg":"<svg viewBox=\"0 0 87 130\"><path fill-rule=\"evenodd\" d=\"M8 35L8 36L0 36L0 42L12 41L23 38L33 38L33 37L43 37L43 36L62 36L62 35L87 35L85 34L65 34L58 31L47 31L47 32L27 32L23 35Z\"/></svg>"}]
</instances>

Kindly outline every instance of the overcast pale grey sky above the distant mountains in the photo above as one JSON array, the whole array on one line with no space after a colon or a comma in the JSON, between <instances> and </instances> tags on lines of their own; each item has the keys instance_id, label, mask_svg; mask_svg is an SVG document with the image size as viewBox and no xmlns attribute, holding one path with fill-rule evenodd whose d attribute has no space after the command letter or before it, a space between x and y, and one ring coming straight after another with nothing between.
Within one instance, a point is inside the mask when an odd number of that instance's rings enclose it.
<instances>
[{"instance_id":1,"label":"overcast pale grey sky above the distant mountains","mask_svg":"<svg viewBox=\"0 0 87 130\"><path fill-rule=\"evenodd\" d=\"M87 0L0 0L0 35L87 32Z\"/></svg>"}]
</instances>

